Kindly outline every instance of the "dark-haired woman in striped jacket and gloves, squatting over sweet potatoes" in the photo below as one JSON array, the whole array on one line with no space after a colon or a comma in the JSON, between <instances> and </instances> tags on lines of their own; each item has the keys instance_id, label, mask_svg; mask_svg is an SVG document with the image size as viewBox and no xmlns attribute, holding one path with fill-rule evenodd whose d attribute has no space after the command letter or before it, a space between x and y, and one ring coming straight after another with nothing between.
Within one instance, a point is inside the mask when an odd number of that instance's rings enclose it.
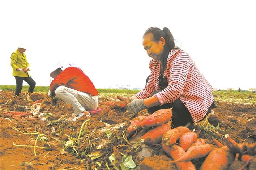
<instances>
[{"instance_id":1,"label":"dark-haired woman in striped jacket and gloves, squatting over sweet potatoes","mask_svg":"<svg viewBox=\"0 0 256 170\"><path fill-rule=\"evenodd\" d=\"M143 36L143 46L151 70L146 86L131 97L127 105L133 115L148 108L148 113L172 108L172 126L191 128L215 108L213 88L199 72L191 57L175 46L168 28L150 27Z\"/></svg>"}]
</instances>

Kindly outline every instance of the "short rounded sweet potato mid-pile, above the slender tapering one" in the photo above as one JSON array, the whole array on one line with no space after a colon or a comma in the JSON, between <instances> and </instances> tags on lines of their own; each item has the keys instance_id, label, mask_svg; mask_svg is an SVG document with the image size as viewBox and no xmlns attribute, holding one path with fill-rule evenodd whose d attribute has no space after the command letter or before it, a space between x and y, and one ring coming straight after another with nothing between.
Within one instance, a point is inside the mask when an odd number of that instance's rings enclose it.
<instances>
[{"instance_id":1,"label":"short rounded sweet potato mid-pile, above the slender tapering one","mask_svg":"<svg viewBox=\"0 0 256 170\"><path fill-rule=\"evenodd\" d=\"M180 137L180 147L182 147L184 150L187 150L188 147L193 142L196 141L196 139L197 139L197 134L193 131L189 131Z\"/></svg>"}]
</instances>

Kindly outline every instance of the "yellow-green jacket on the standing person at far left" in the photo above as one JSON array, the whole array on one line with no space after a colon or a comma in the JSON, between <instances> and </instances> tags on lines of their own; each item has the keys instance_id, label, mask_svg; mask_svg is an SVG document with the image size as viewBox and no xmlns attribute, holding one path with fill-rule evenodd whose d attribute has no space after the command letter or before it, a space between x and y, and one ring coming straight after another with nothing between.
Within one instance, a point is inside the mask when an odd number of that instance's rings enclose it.
<instances>
[{"instance_id":1,"label":"yellow-green jacket on the standing person at far left","mask_svg":"<svg viewBox=\"0 0 256 170\"><path fill-rule=\"evenodd\" d=\"M16 70L17 68L27 68L29 63L27 62L26 54L19 52L17 49L16 52L13 52L11 55L11 66L13 68L12 75L18 77L28 77L29 73L24 73L22 71Z\"/></svg>"}]
</instances>

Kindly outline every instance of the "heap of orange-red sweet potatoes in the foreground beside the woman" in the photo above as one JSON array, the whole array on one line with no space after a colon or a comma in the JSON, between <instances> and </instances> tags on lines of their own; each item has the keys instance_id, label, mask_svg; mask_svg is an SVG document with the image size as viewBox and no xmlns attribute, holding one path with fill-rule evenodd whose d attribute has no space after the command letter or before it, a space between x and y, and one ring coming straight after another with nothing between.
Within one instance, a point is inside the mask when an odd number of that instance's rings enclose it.
<instances>
[{"instance_id":1,"label":"heap of orange-red sweet potatoes in the foreground beside the woman","mask_svg":"<svg viewBox=\"0 0 256 170\"><path fill-rule=\"evenodd\" d=\"M196 167L191 160L206 156L200 170L224 170L235 160L236 154L238 160L244 162L244 166L250 166L250 160L255 156L256 143L238 144L225 136L226 145L217 140L214 140L217 147L206 144L204 139L198 138L198 134L186 127L171 129L171 117L171 109L158 110L149 116L138 116L127 128L127 136L136 134L139 129L153 127L141 137L141 140L143 139L146 145L162 142L163 150L173 158L172 163L175 163L179 170L195 170Z\"/></svg>"}]
</instances>

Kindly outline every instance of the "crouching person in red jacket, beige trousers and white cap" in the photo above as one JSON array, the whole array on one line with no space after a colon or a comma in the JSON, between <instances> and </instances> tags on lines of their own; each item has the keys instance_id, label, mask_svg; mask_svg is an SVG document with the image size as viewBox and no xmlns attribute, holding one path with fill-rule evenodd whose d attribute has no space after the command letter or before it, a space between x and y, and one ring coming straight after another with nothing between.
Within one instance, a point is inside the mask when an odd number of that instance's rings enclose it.
<instances>
[{"instance_id":1,"label":"crouching person in red jacket, beige trousers and white cap","mask_svg":"<svg viewBox=\"0 0 256 170\"><path fill-rule=\"evenodd\" d=\"M98 107L98 91L88 76L71 62L57 64L50 76L54 80L50 84L48 95L72 104L74 113L68 121L76 121L82 116L90 118L91 110Z\"/></svg>"}]
</instances>

